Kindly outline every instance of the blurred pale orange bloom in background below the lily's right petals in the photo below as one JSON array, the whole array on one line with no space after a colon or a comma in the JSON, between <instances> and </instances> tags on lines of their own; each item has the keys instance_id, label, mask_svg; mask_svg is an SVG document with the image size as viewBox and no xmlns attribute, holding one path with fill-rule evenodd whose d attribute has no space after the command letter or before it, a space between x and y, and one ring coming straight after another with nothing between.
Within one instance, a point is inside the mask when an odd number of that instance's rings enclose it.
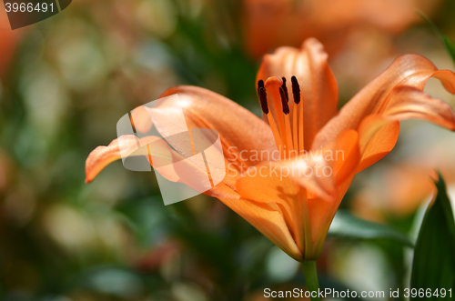
<instances>
[{"instance_id":1,"label":"blurred pale orange bloom in background below the lily's right petals","mask_svg":"<svg viewBox=\"0 0 455 301\"><path fill-rule=\"evenodd\" d=\"M408 137L406 143L410 147L414 144L414 148L418 148L419 142L412 140L420 140L422 134L434 135L427 126L417 126L413 131L417 135L414 139ZM369 175L353 197L352 208L356 214L377 222L411 216L434 193L431 178L438 178L437 170L444 176L450 192L455 183L455 144L451 135L439 135L435 139L431 147L414 150L413 154L407 152L408 156L399 164L381 166L374 175Z\"/></svg>"}]
</instances>

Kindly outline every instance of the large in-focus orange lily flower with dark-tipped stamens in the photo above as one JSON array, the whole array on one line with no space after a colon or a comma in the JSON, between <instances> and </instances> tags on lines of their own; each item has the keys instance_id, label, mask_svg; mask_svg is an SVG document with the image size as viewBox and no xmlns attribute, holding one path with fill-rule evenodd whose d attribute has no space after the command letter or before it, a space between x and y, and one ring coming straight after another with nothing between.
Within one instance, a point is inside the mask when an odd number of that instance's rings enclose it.
<instances>
[{"instance_id":1,"label":"large in-focus orange lily flower with dark-tipped stamens","mask_svg":"<svg viewBox=\"0 0 455 301\"><path fill-rule=\"evenodd\" d=\"M168 97L147 109L161 134L175 132L179 106L188 128L216 130L227 171L223 181L205 194L220 199L299 261L319 257L353 177L394 147L399 120L420 118L455 130L450 106L422 92L435 77L454 94L453 72L438 70L420 55L399 56L338 112L337 81L327 60L323 46L313 38L301 49L280 47L264 56L258 95L268 122L195 86L172 87L162 95L178 94L178 105ZM137 129L151 123L135 120L135 125ZM153 140L142 139L146 138ZM132 153L136 137L130 140L121 143ZM183 153L178 141L167 142ZM279 157L260 156L271 152ZM96 147L86 160L86 181L119 158L116 140ZM172 172L164 176L187 181Z\"/></svg>"}]
</instances>

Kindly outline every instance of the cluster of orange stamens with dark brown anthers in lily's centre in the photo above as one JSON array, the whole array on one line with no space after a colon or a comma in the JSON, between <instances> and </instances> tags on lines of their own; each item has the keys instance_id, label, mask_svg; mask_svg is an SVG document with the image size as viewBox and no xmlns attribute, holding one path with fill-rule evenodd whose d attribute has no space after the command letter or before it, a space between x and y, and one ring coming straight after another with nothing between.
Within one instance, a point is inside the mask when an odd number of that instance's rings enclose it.
<instances>
[{"instance_id":1,"label":"cluster of orange stamens with dark brown anthers in lily's centre","mask_svg":"<svg viewBox=\"0 0 455 301\"><path fill-rule=\"evenodd\" d=\"M292 76L294 102L289 104L286 82L285 77L278 76L268 77L265 84L262 79L258 81L258 96L262 112L268 117L281 160L296 157L305 151L300 85L297 77Z\"/></svg>"}]
</instances>

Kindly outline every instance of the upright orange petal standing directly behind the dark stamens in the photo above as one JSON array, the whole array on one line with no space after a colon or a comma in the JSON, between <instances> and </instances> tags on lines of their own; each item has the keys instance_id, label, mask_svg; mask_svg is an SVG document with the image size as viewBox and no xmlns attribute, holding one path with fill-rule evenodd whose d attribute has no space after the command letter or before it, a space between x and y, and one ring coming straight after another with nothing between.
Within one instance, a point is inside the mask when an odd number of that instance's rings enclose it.
<instances>
[{"instance_id":1,"label":"upright orange petal standing directly behind the dark stamens","mask_svg":"<svg viewBox=\"0 0 455 301\"><path fill-rule=\"evenodd\" d=\"M323 45L314 38L308 38L300 49L279 47L272 55L264 55L257 81L266 81L271 76L284 76L288 79L289 107L293 110L290 79L295 75L300 85L304 105L305 145L312 144L314 136L330 118L337 114L338 85L327 62L328 55ZM268 101L271 112L275 109ZM293 114L289 115L291 118Z\"/></svg>"}]
</instances>

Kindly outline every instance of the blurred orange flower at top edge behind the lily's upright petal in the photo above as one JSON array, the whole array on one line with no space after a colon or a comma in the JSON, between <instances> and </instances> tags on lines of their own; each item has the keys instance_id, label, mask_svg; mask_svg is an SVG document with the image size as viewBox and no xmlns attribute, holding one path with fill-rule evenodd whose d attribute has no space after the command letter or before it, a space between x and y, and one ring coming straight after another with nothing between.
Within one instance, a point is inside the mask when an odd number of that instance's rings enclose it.
<instances>
[{"instance_id":1,"label":"blurred orange flower at top edge behind the lily's upright petal","mask_svg":"<svg viewBox=\"0 0 455 301\"><path fill-rule=\"evenodd\" d=\"M246 0L245 43L251 55L260 57L316 37L333 55L355 28L373 25L398 35L420 20L418 9L430 15L439 5L438 0Z\"/></svg>"}]
</instances>

